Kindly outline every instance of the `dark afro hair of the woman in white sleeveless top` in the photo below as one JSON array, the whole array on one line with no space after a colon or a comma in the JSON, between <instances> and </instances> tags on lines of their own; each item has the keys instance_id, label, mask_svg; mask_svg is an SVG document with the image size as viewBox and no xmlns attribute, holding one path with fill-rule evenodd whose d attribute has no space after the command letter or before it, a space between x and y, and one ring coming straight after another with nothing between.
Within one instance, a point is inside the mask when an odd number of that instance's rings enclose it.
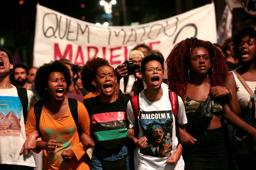
<instances>
[{"instance_id":1,"label":"dark afro hair of the woman in white sleeveless top","mask_svg":"<svg viewBox=\"0 0 256 170\"><path fill-rule=\"evenodd\" d=\"M234 43L233 51L240 62L241 62L241 55L239 53L239 46L240 46L241 39L245 36L249 36L249 38L255 38L256 40L256 30L252 27L244 27L239 29L236 33L234 33L232 37L232 41Z\"/></svg>"}]
</instances>

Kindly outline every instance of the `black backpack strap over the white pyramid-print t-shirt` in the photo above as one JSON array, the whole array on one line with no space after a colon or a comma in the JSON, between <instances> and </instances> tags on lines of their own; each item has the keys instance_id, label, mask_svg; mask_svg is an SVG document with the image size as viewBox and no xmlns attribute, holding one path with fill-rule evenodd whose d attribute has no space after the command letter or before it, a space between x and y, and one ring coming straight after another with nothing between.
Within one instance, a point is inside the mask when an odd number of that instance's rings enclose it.
<instances>
[{"instance_id":1,"label":"black backpack strap over the white pyramid-print t-shirt","mask_svg":"<svg viewBox=\"0 0 256 170\"><path fill-rule=\"evenodd\" d=\"M16 87L16 88L17 88L19 100L22 104L24 123L26 124L27 117L28 117L28 92L27 92L27 89L25 88L22 88L22 87Z\"/></svg>"}]
</instances>

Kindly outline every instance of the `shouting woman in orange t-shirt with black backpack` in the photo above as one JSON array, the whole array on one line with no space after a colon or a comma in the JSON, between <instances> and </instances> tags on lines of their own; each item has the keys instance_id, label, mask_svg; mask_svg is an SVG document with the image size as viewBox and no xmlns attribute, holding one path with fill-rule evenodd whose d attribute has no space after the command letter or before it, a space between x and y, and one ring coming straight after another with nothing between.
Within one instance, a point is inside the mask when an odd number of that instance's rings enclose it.
<instances>
[{"instance_id":1,"label":"shouting woman in orange t-shirt with black backpack","mask_svg":"<svg viewBox=\"0 0 256 170\"><path fill-rule=\"evenodd\" d=\"M39 123L35 110L40 109L31 107L26 121L26 136L35 130L41 134L42 140L36 141L36 152L43 150L43 169L90 169L86 148L77 131L77 126L80 126L89 137L90 118L85 106L75 100L79 125L75 124L70 99L65 96L71 84L70 78L69 69L59 61L43 64L36 73L35 87L43 98L38 102L43 106Z\"/></svg>"}]
</instances>

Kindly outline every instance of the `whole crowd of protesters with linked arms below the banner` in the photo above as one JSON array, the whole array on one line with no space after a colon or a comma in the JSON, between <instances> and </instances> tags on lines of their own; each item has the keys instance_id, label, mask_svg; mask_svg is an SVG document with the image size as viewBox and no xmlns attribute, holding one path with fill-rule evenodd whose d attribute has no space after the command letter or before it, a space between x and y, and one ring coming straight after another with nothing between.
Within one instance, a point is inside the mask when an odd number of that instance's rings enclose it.
<instances>
[{"instance_id":1,"label":"whole crowd of protesters with linked arms below the banner","mask_svg":"<svg viewBox=\"0 0 256 170\"><path fill-rule=\"evenodd\" d=\"M256 30L168 50L28 68L0 47L0 169L255 169Z\"/></svg>"}]
</instances>

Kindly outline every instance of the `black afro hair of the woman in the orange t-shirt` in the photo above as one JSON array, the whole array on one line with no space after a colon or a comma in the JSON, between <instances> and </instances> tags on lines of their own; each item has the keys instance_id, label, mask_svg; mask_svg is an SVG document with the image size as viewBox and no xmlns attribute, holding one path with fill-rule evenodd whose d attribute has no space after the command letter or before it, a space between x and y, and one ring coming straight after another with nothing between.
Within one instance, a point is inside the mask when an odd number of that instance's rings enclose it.
<instances>
[{"instance_id":1,"label":"black afro hair of the woman in the orange t-shirt","mask_svg":"<svg viewBox=\"0 0 256 170\"><path fill-rule=\"evenodd\" d=\"M35 88L36 92L43 99L48 97L48 91L46 87L48 86L49 75L52 72L60 72L64 75L65 81L67 83L67 90L69 89L71 83L71 76L69 69L60 61L52 61L47 64L43 64L36 72L35 78Z\"/></svg>"}]
</instances>

